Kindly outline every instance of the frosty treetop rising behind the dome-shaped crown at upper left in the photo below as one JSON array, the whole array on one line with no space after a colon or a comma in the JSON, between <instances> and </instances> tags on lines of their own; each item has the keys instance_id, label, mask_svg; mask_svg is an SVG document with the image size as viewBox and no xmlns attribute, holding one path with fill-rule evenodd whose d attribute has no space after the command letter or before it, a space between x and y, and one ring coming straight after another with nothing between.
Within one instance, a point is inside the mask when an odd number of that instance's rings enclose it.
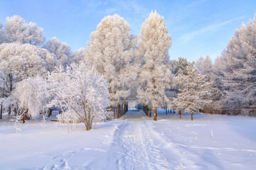
<instances>
[{"instance_id":1,"label":"frosty treetop rising behind the dome-shaped crown at upper left","mask_svg":"<svg viewBox=\"0 0 256 170\"><path fill-rule=\"evenodd\" d=\"M9 42L41 45L45 40L42 28L36 23L25 23L20 16L6 17L5 31Z\"/></svg>"}]
</instances>

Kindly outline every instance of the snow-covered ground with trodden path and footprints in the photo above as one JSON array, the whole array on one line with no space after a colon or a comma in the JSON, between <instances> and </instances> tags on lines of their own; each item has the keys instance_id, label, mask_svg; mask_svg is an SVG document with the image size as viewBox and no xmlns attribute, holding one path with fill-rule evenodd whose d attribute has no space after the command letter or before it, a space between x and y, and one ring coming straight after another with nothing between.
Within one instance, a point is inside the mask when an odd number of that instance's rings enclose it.
<instances>
[{"instance_id":1,"label":"snow-covered ground with trodden path and footprints","mask_svg":"<svg viewBox=\"0 0 256 170\"><path fill-rule=\"evenodd\" d=\"M158 118L129 111L70 133L67 125L30 120L17 135L14 123L0 120L0 169L256 169L256 118Z\"/></svg>"}]
</instances>

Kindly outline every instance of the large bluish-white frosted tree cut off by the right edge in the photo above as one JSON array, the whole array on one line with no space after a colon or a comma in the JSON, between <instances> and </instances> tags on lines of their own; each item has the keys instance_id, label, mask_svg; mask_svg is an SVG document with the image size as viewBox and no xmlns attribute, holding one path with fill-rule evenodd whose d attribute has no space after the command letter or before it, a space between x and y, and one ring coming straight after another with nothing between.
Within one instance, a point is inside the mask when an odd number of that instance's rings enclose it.
<instances>
[{"instance_id":1,"label":"large bluish-white frosted tree cut off by the right edge","mask_svg":"<svg viewBox=\"0 0 256 170\"><path fill-rule=\"evenodd\" d=\"M248 113L256 106L255 34L256 16L247 26L242 24L240 30L235 30L235 35L223 50L225 108L243 109Z\"/></svg>"}]
</instances>

